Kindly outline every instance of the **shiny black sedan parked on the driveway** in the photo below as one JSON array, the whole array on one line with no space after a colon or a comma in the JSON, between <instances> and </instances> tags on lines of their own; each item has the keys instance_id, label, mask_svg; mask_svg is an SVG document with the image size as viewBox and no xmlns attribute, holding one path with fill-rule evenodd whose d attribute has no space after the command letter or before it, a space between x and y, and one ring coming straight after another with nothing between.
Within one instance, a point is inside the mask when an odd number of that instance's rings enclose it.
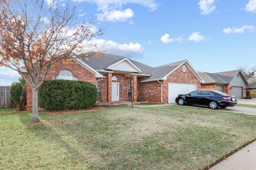
<instances>
[{"instance_id":1,"label":"shiny black sedan parked on the driveway","mask_svg":"<svg viewBox=\"0 0 256 170\"><path fill-rule=\"evenodd\" d=\"M236 96L228 95L215 90L196 90L189 94L179 94L175 102L179 105L194 104L208 106L210 109L236 106Z\"/></svg>"}]
</instances>

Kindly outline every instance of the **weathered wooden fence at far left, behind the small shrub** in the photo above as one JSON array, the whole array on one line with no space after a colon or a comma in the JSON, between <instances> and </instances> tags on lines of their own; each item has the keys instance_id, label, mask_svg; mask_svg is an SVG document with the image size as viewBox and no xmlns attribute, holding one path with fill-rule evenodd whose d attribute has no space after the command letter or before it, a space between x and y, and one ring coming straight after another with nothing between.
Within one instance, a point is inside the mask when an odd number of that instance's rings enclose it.
<instances>
[{"instance_id":1,"label":"weathered wooden fence at far left, behind the small shrub","mask_svg":"<svg viewBox=\"0 0 256 170\"><path fill-rule=\"evenodd\" d=\"M27 88L23 86L22 96L24 98L25 106L27 103ZM16 107L10 98L10 86L0 86L0 108Z\"/></svg>"}]
</instances>

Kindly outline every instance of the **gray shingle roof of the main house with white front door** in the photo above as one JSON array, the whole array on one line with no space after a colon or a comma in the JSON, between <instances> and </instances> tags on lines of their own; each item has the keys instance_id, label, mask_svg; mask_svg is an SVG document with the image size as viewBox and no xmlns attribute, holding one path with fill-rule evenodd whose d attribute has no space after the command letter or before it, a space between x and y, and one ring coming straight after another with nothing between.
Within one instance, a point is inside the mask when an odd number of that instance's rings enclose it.
<instances>
[{"instance_id":1,"label":"gray shingle roof of the main house with white front door","mask_svg":"<svg viewBox=\"0 0 256 170\"><path fill-rule=\"evenodd\" d=\"M111 66L112 64L126 58L123 56L112 55L112 54L100 54L100 53L96 53L96 52L91 52L91 53L86 53L86 54L87 54L87 58L89 58L90 61L86 60L85 54L78 55L78 57L84 63L88 64L95 70L106 70L106 68L108 68L108 66ZM101 58L99 58L98 55L100 55ZM139 74L151 75L151 76L145 78L144 81L161 79L164 76L166 76L167 74L169 74L170 72L172 72L172 70L177 68L177 66L179 66L181 63L186 61L186 60L183 60L183 61L170 63L170 64L158 66L158 67L151 67L146 64L142 64L138 61L134 61L132 59L128 59L128 60L130 60L134 65L136 65L138 68L140 68L140 70L142 70L142 72L140 72Z\"/></svg>"}]
</instances>

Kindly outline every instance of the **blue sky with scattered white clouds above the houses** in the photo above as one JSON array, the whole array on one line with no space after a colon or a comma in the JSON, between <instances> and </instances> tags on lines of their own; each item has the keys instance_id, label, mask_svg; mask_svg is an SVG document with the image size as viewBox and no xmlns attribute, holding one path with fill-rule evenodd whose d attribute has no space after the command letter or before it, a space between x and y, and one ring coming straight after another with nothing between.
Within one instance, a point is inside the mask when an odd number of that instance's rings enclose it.
<instances>
[{"instance_id":1,"label":"blue sky with scattered white clouds above the houses","mask_svg":"<svg viewBox=\"0 0 256 170\"><path fill-rule=\"evenodd\" d=\"M153 67L188 59L212 73L256 64L256 0L80 0L87 7L107 27L94 39L106 53ZM0 85L18 77L0 68Z\"/></svg>"}]
</instances>

